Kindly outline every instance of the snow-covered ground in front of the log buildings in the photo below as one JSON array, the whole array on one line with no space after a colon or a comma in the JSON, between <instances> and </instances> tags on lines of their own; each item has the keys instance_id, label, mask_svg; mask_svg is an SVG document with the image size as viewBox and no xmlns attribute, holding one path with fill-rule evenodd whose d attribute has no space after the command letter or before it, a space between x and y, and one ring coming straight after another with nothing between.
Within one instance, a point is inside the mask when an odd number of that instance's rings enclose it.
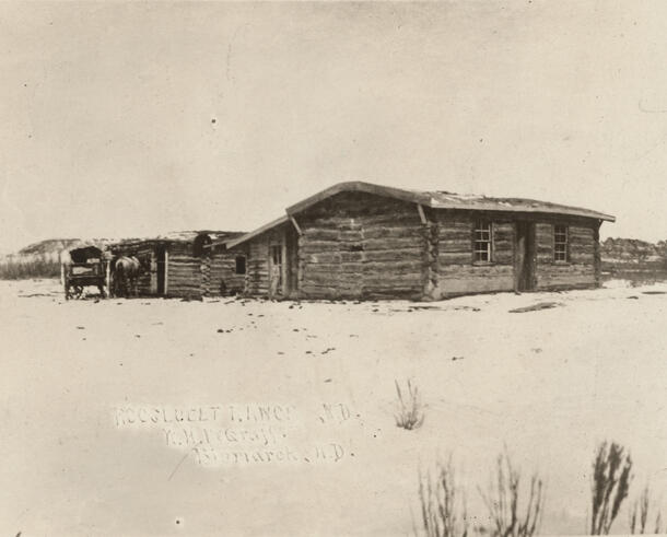
<instances>
[{"instance_id":1,"label":"snow-covered ground in front of the log buildings","mask_svg":"<svg viewBox=\"0 0 667 537\"><path fill-rule=\"evenodd\" d=\"M483 524L505 445L547 483L542 532L581 534L602 440L665 517L660 293L65 302L54 281L0 282L0 534L410 535L418 470L448 454ZM413 431L394 422L408 378Z\"/></svg>"}]
</instances>

